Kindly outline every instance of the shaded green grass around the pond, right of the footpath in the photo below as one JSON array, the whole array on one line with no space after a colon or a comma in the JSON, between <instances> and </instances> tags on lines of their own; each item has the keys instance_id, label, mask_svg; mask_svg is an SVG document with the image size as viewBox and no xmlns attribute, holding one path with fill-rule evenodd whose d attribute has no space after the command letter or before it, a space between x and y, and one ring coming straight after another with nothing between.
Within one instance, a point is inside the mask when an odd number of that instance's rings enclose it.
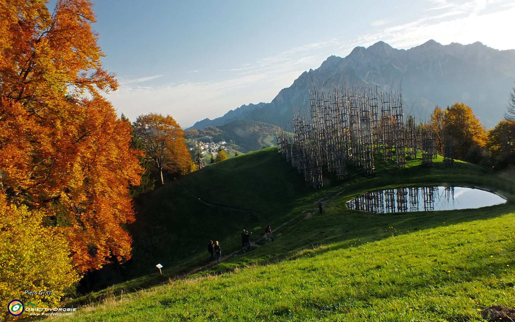
<instances>
[{"instance_id":1,"label":"shaded green grass around the pond, right of the footpath","mask_svg":"<svg viewBox=\"0 0 515 322\"><path fill-rule=\"evenodd\" d=\"M295 212L301 213L311 211L312 217L301 218L282 231L277 237L278 244L268 243L245 257L246 262L254 259L256 263L277 262L284 259L295 259L296 254L303 249L315 248L314 246L327 245L317 248L316 253L325 253L336 249L347 248L350 245L356 246L366 242L381 240L392 235L409 234L419 230L437 228L445 225L454 225L463 222L476 220L486 220L502 216L515 211L515 199L506 191L512 192L512 186L508 180L500 178L484 177L472 173L462 174L443 174L427 176L417 176L420 169L406 169L413 172L410 176L395 178L390 174L376 176L375 180L368 182L341 185L328 191L335 194L335 191L344 189L341 196L330 200L324 206L324 213L318 214L316 200L311 200L312 206L299 207ZM396 171L392 171L396 172ZM445 182L442 182L445 178ZM406 185L437 185L437 184L461 184L461 185L480 185L492 190L503 191L508 197L508 202L502 205L483 207L477 209L460 209L444 211L419 211L403 213L371 213L357 210L349 210L345 203L356 195L369 191L370 189L384 189L388 187L398 187L400 184ZM512 184L511 184L512 185ZM318 197L318 196L317 196ZM243 260L243 259L242 259ZM233 260L234 263L241 261Z\"/></svg>"}]
</instances>

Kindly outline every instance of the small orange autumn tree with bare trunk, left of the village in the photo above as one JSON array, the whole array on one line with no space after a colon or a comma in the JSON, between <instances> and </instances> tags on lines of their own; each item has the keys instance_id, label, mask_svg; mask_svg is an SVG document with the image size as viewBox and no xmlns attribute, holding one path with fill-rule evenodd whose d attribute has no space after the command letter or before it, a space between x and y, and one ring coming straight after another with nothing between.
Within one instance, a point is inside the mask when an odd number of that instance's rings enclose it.
<instances>
[{"instance_id":1,"label":"small orange autumn tree with bare trunk, left of the village","mask_svg":"<svg viewBox=\"0 0 515 322\"><path fill-rule=\"evenodd\" d=\"M143 142L148 163L158 171L161 184L164 184L164 170L179 176L191 169L192 160L184 143L184 132L173 117L150 113L140 115L133 124Z\"/></svg>"}]
</instances>

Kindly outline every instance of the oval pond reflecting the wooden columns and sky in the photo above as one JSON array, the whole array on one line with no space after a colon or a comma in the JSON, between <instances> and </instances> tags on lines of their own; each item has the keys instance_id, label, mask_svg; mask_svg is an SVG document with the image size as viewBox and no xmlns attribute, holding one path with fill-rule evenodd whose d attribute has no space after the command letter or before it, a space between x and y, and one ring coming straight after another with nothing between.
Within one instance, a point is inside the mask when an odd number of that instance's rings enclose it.
<instances>
[{"instance_id":1,"label":"oval pond reflecting the wooden columns and sky","mask_svg":"<svg viewBox=\"0 0 515 322\"><path fill-rule=\"evenodd\" d=\"M507 199L479 187L430 186L370 191L347 202L349 209L376 213L471 209L504 204Z\"/></svg>"}]
</instances>

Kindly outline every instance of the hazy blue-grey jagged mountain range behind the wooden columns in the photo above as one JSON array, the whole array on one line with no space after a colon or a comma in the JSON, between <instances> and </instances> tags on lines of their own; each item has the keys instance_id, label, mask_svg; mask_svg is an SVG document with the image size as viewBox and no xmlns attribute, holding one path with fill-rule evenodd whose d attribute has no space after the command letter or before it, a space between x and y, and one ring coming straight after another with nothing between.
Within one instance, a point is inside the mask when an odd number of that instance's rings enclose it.
<instances>
[{"instance_id":1,"label":"hazy blue-grey jagged mountain range behind the wooden columns","mask_svg":"<svg viewBox=\"0 0 515 322\"><path fill-rule=\"evenodd\" d=\"M308 90L338 84L367 83L382 88L401 84L404 111L424 119L435 105L465 103L487 128L493 127L506 110L515 81L515 49L497 50L476 42L441 45L430 40L407 50L380 41L356 47L345 58L331 56L322 65L304 71L283 88L270 103L242 105L214 120L195 123L194 129L219 126L235 119L288 127L294 112L309 108Z\"/></svg>"}]
</instances>

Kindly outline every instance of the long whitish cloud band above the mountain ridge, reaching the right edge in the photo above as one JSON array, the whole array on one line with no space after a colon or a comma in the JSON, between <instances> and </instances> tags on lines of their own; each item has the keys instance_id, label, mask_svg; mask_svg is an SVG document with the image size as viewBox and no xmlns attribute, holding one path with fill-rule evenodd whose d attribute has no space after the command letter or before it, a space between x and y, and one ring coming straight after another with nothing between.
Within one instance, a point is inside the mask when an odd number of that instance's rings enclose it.
<instances>
[{"instance_id":1,"label":"long whitish cloud band above the mountain ridge, reaching the right edge","mask_svg":"<svg viewBox=\"0 0 515 322\"><path fill-rule=\"evenodd\" d=\"M189 127L195 121L219 117L242 104L270 102L304 70L317 68L330 55L344 57L355 46L370 46L382 40L395 48L407 49L434 39L442 44L480 41L497 49L515 48L515 38L510 35L515 30L515 6L508 6L511 1L431 2L434 7L426 11L426 16L408 23L391 26L390 21L376 21L372 23L375 27L390 26L353 39L338 37L298 46L249 64L219 70L229 79L141 85L161 77L156 75L121 81L119 90L110 94L109 99L119 112L131 119L142 113L157 112L173 115L181 126Z\"/></svg>"}]
</instances>

